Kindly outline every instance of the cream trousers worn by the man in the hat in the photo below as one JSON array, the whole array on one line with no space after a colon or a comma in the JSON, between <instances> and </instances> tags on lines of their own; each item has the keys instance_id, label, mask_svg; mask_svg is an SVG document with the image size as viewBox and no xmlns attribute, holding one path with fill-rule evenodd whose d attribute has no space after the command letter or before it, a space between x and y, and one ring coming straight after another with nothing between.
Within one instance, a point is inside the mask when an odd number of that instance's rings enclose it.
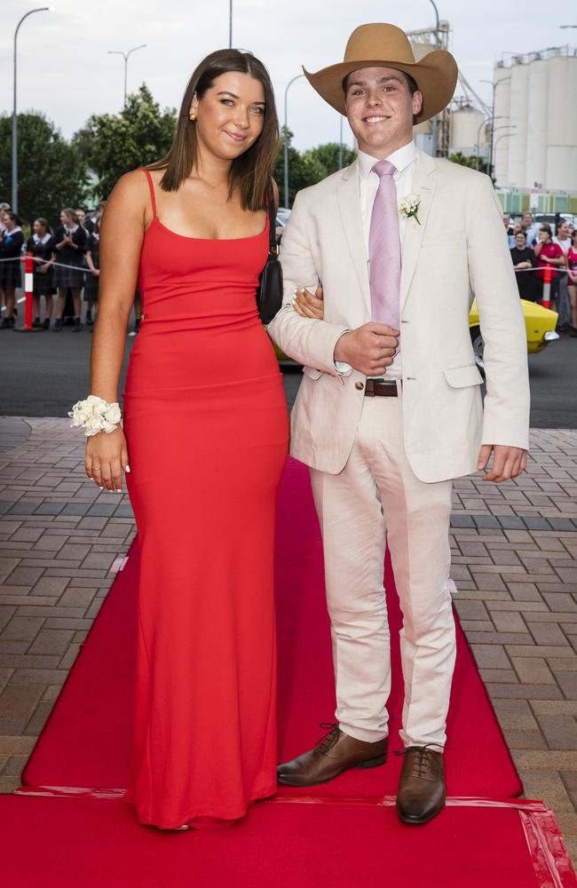
<instances>
[{"instance_id":1,"label":"cream trousers worn by the man in the hat","mask_svg":"<svg viewBox=\"0 0 577 888\"><path fill-rule=\"evenodd\" d=\"M358 740L389 733L386 542L403 613L400 738L405 746L444 746L455 659L447 583L452 482L416 478L403 444L402 395L366 397L343 472L311 469L311 478L324 545L336 719Z\"/></svg>"}]
</instances>

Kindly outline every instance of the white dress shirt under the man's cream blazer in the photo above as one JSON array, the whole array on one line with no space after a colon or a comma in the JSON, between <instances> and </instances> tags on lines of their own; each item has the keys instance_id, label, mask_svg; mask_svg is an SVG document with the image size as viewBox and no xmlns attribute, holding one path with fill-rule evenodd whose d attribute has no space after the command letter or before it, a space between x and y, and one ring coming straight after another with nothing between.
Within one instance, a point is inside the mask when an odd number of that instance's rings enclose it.
<instances>
[{"instance_id":1,"label":"white dress shirt under the man's cream blazer","mask_svg":"<svg viewBox=\"0 0 577 888\"><path fill-rule=\"evenodd\" d=\"M376 192L379 187L379 177L375 172L373 172L373 167L375 163L379 160L378 157L371 157L371 155L365 154L364 151L360 151L358 155L359 162L359 186L360 186L360 215L362 217L363 223L363 234L365 239L365 250L367 253L367 264L368 264L368 237L370 233L371 226L371 216L373 214L373 204L375 203ZM407 145L404 145L402 148L398 148L397 151L393 151L391 155L383 158L383 160L389 161L393 166L397 168L396 172L392 174L392 179L395 183L395 187L397 188L397 203L399 204L402 201L403 197L407 197L407 194L411 193L411 188L413 187L413 177L415 175L415 161L416 161L416 146L415 142L411 140ZM399 237L400 237L400 247L401 251L403 248L403 238L405 236L405 228L407 227L407 219L399 216ZM370 268L369 268L370 275ZM400 293L399 293L400 299ZM342 361L335 362L336 369L339 370L340 373L346 373L351 370L348 364L343 363ZM394 361L391 364L391 367L387 367L387 371L385 374L386 379L400 379L401 377L401 354L397 354L395 356Z\"/></svg>"}]
</instances>

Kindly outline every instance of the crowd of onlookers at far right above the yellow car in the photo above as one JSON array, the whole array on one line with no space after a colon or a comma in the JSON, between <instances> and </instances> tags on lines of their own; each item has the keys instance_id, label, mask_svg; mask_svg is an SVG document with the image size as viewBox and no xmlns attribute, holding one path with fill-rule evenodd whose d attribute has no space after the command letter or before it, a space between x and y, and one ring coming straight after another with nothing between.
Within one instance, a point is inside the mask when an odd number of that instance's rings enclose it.
<instances>
[{"instance_id":1,"label":"crowd of onlookers at far right above the yellow car","mask_svg":"<svg viewBox=\"0 0 577 888\"><path fill-rule=\"evenodd\" d=\"M558 313L557 329L577 337L577 229L560 218L555 234L550 225L535 222L532 213L511 225L503 213L519 296L543 301L544 271L551 269L550 306Z\"/></svg>"}]
</instances>

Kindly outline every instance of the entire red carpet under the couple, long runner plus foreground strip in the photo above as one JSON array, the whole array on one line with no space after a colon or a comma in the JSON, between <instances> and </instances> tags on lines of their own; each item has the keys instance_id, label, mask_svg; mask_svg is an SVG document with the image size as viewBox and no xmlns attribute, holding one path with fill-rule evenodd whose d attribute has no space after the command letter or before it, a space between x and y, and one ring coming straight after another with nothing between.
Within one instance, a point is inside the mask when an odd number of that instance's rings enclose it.
<instances>
[{"instance_id":1,"label":"entire red carpet under the couple, long runner plus foreground strip","mask_svg":"<svg viewBox=\"0 0 577 888\"><path fill-rule=\"evenodd\" d=\"M255 557L258 557L257 547ZM316 741L334 687L320 534L304 468L289 461L277 546L281 758ZM400 615L391 569L392 638ZM458 629L447 808L426 827L394 811L400 758L307 791L282 789L233 829L141 827L128 769L138 547L117 577L28 761L0 796L0 874L10 888L577 888L555 817L514 796L518 775ZM391 748L399 748L399 645ZM100 788L95 791L94 788ZM459 798L459 797L469 798ZM451 798L452 797L452 798ZM471 798L474 797L474 798Z\"/></svg>"}]
</instances>

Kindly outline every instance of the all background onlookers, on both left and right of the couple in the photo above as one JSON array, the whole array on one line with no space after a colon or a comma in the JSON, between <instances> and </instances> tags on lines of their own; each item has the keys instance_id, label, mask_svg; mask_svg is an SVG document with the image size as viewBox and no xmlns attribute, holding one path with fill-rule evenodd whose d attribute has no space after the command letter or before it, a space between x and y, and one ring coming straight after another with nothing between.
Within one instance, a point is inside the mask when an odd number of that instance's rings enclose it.
<instances>
[{"instance_id":1,"label":"all background onlookers, on both left and right of the couple","mask_svg":"<svg viewBox=\"0 0 577 888\"><path fill-rule=\"evenodd\" d=\"M88 215L82 209L67 207L60 212L53 232L45 218L36 218L25 241L22 220L8 203L0 203L0 306L4 307L0 329L12 329L16 323L23 253L34 259L32 326L50 329L54 318L55 332L65 323L75 332L83 325L92 327L99 304L99 228L105 206L106 202L99 203ZM553 234L549 224L535 221L530 212L514 223L509 213L503 213L503 225L519 296L541 303L544 269L549 266L550 305L559 315L557 329L577 337L577 229L560 218ZM142 317L138 290L134 312L131 336L138 333Z\"/></svg>"}]
</instances>

